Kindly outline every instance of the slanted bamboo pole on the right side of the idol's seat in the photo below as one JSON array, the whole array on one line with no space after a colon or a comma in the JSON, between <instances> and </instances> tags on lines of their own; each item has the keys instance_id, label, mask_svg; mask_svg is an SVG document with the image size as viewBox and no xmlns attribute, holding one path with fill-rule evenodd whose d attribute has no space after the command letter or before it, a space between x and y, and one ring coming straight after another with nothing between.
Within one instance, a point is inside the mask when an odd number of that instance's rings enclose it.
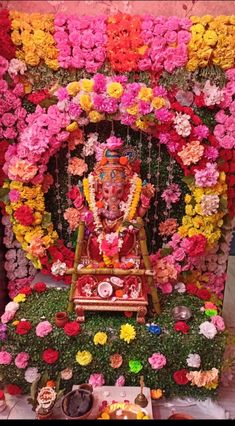
<instances>
[{"instance_id":1,"label":"slanted bamboo pole on the right side of the idol's seat","mask_svg":"<svg viewBox=\"0 0 235 426\"><path fill-rule=\"evenodd\" d=\"M146 242L146 233L145 233L145 229L144 229L144 222L143 222L141 217L137 218L137 223L140 225L139 242L140 242L141 253L142 253L142 256L143 256L144 266L147 270L151 270L152 265L151 265L151 262L150 262L150 259L149 259L149 254L148 254L148 248L147 248L147 242ZM159 302L159 299L158 299L157 289L154 285L153 276L148 275L147 281L148 281L148 286L149 286L150 291L151 291L154 310L155 310L156 314L159 315L161 313L161 308L160 308L160 302Z\"/></svg>"}]
</instances>

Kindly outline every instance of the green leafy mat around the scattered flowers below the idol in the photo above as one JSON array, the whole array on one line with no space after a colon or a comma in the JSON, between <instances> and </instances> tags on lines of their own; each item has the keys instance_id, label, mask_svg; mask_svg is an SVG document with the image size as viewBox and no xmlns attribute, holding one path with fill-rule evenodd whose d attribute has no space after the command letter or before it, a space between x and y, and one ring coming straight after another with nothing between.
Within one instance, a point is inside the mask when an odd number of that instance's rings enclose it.
<instances>
[{"instance_id":1,"label":"green leafy mat around the scattered flowers below the idol","mask_svg":"<svg viewBox=\"0 0 235 426\"><path fill-rule=\"evenodd\" d=\"M68 337L64 330L57 328L54 322L55 313L66 310L68 290L50 289L43 294L33 294L26 302L21 303L20 310L15 319L26 318L33 327L25 336L15 333L13 325L8 326L8 340L3 343L4 350L9 351L15 357L19 352L26 351L30 354L30 367L37 367L40 373L48 374L52 380L58 378L58 373L64 368L73 368L73 377L69 381L61 379L60 388L69 391L73 384L86 382L90 374L103 373L106 385L114 385L120 375L124 375L126 385L137 386L139 375L132 373L129 361L139 361L143 368L141 374L144 375L146 386L150 388L162 388L166 397L194 397L205 399L216 396L216 390L197 388L196 386L177 385L173 380L173 373L187 367L186 359L190 353L198 353L201 357L202 370L209 370L213 367L221 370L222 356L224 352L225 335L219 333L214 339L206 339L199 334L199 325L208 318L200 311L203 302L190 295L180 295L173 293L167 298L161 297L162 313L159 317L148 318L147 321L155 322L161 327L161 334L156 335L148 331L146 325L137 324L135 317L125 318L122 313L110 312L89 312L86 313L86 321L81 325L81 332L76 337ZM193 316L189 321L189 334L182 334L174 331L174 321L172 309L177 305L189 307ZM42 320L48 320L53 325L53 331L44 338L39 338L35 334L36 325ZM70 314L70 320L75 319L75 313ZM136 330L136 339L129 344L121 340L120 327L123 324L132 324ZM106 332L108 341L105 345L95 345L94 335L99 332ZM48 365L42 361L42 352L47 348L59 351L59 360ZM85 367L76 362L78 351L90 351L93 360ZM148 358L154 352L162 353L167 364L161 370L153 370L148 362ZM123 357L123 364L118 369L110 366L109 357L119 353ZM17 369L14 362L11 365L1 366L0 374L3 383L16 383L22 386L25 392L29 392L29 384L24 380L24 370Z\"/></svg>"}]
</instances>

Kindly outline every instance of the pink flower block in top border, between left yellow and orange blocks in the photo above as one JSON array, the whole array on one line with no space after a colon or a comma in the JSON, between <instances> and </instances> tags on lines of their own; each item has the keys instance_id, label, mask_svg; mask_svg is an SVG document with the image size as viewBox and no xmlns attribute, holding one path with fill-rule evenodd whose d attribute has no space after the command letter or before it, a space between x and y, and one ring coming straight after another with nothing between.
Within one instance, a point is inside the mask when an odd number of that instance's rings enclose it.
<instances>
[{"instance_id":1,"label":"pink flower block in top border, between left yellow and orange blocks","mask_svg":"<svg viewBox=\"0 0 235 426\"><path fill-rule=\"evenodd\" d=\"M106 59L106 17L60 13L55 16L54 24L60 66L96 73Z\"/></svg>"}]
</instances>

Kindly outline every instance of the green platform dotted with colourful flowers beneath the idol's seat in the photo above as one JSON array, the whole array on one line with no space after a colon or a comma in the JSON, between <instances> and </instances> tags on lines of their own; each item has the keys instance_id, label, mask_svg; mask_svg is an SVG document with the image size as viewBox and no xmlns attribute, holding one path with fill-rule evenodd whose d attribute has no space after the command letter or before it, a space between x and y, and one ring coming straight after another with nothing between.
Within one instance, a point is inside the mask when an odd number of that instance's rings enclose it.
<instances>
[{"instance_id":1,"label":"green platform dotted with colourful flowers beneath the idol's seat","mask_svg":"<svg viewBox=\"0 0 235 426\"><path fill-rule=\"evenodd\" d=\"M212 303L173 292L164 296L160 316L145 325L121 313L89 313L78 324L72 313L60 328L55 314L66 310L67 300L67 289L37 283L6 306L0 374L11 395L29 393L46 373L65 391L83 382L138 386L143 375L155 399L216 397L226 339ZM172 315L182 305L192 312L187 322Z\"/></svg>"}]
</instances>

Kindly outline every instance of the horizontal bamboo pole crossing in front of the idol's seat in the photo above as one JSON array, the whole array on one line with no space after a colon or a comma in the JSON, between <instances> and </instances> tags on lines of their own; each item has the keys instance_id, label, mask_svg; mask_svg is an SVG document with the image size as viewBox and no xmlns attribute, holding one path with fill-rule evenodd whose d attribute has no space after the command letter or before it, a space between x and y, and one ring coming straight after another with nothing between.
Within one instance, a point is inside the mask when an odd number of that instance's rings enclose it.
<instances>
[{"instance_id":1,"label":"horizontal bamboo pole crossing in front of the idol's seat","mask_svg":"<svg viewBox=\"0 0 235 426\"><path fill-rule=\"evenodd\" d=\"M66 274L73 274L74 268L67 269ZM152 271L147 269L119 269L119 268L81 268L77 270L77 275L152 275Z\"/></svg>"}]
</instances>

